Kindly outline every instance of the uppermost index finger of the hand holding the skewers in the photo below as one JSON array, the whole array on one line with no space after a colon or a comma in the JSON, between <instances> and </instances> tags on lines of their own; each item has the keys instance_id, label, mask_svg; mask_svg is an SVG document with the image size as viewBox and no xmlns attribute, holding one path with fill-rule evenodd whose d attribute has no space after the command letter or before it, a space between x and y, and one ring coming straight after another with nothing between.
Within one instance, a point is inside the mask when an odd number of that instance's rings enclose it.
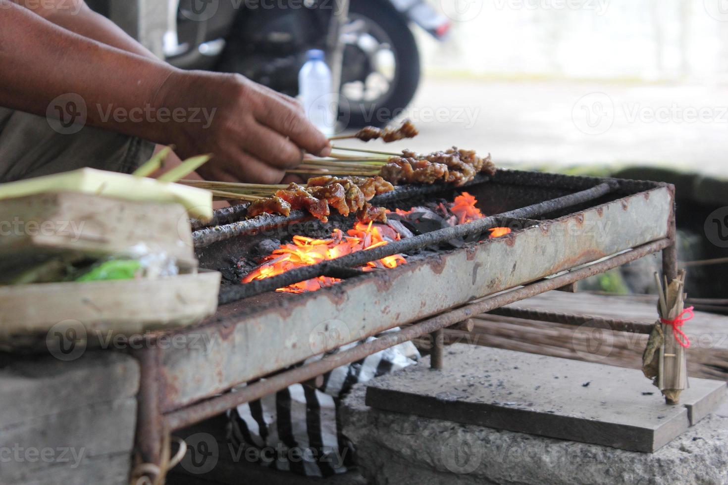
<instances>
[{"instance_id":1,"label":"uppermost index finger of the hand holding the skewers","mask_svg":"<svg viewBox=\"0 0 728 485\"><path fill-rule=\"evenodd\" d=\"M256 117L266 127L289 137L293 143L309 153L318 156L331 153L331 146L323 133L309 123L301 111L294 110L277 97L266 97L263 110Z\"/></svg>"}]
</instances>

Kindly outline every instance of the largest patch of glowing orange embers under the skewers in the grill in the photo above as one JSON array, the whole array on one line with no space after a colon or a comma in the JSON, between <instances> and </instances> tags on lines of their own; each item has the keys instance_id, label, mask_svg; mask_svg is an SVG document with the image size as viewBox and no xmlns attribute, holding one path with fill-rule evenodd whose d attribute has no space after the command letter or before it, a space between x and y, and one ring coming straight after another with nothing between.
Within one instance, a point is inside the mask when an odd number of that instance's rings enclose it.
<instances>
[{"instance_id":1,"label":"largest patch of glowing orange embers under the skewers in the grill","mask_svg":"<svg viewBox=\"0 0 728 485\"><path fill-rule=\"evenodd\" d=\"M387 228L388 229L388 228ZM382 229L384 230L384 228ZM400 239L399 234L389 230L391 239L395 241ZM272 254L266 256L263 264L251 271L248 276L242 279L242 283L250 283L250 281L271 278L280 275L294 268L302 266L314 265L324 260L333 260L336 257L351 254L352 252L363 251L364 249L372 249L388 244L389 241L384 239L378 226L372 223L357 223L353 229L347 231L348 236L339 229L334 229L331 233L331 239L312 239L305 236L293 236L291 244L283 244ZM387 256L381 260L368 262L363 270L371 271L373 268L396 268L397 265L405 264L405 258L399 254ZM286 293L302 293L314 292L325 286L341 281L339 278L330 278L328 276L318 276L317 278L301 281L300 283L279 288L277 292Z\"/></svg>"}]
</instances>

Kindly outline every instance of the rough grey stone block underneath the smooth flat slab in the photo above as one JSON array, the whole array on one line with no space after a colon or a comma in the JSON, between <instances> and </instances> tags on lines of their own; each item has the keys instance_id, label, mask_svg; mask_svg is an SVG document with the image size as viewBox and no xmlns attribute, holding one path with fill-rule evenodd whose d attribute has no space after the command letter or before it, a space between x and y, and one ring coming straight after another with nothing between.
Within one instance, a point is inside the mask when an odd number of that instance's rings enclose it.
<instances>
[{"instance_id":1,"label":"rough grey stone block underneath the smooth flat slab","mask_svg":"<svg viewBox=\"0 0 728 485\"><path fill-rule=\"evenodd\" d=\"M640 453L380 411L365 393L349 393L341 422L370 485L728 484L728 414Z\"/></svg>"}]
</instances>

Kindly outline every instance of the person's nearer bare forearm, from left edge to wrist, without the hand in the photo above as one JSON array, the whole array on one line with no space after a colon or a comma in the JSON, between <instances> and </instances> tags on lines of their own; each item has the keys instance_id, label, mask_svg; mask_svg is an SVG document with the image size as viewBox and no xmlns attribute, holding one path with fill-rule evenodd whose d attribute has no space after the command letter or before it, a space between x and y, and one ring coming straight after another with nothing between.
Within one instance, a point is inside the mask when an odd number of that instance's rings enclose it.
<instances>
[{"instance_id":1,"label":"person's nearer bare forearm, from left edge to wrist, without the hand","mask_svg":"<svg viewBox=\"0 0 728 485\"><path fill-rule=\"evenodd\" d=\"M113 109L154 109L175 68L124 52L53 25L9 0L0 0L0 105L45 116L66 93L86 104L87 124L167 143L160 124L107 116ZM103 108L103 109L101 109Z\"/></svg>"}]
</instances>

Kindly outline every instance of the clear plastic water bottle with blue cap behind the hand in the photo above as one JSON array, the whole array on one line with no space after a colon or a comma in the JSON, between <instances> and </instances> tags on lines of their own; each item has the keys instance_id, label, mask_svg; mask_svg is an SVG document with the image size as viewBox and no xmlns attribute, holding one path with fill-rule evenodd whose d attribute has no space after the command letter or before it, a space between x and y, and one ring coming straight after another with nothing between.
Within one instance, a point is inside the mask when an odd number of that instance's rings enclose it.
<instances>
[{"instance_id":1,"label":"clear plastic water bottle with blue cap behind the hand","mask_svg":"<svg viewBox=\"0 0 728 485\"><path fill-rule=\"evenodd\" d=\"M298 73L298 92L306 116L324 135L333 135L336 119L331 81L331 69L324 60L324 53L319 49L306 52L308 61Z\"/></svg>"}]
</instances>

